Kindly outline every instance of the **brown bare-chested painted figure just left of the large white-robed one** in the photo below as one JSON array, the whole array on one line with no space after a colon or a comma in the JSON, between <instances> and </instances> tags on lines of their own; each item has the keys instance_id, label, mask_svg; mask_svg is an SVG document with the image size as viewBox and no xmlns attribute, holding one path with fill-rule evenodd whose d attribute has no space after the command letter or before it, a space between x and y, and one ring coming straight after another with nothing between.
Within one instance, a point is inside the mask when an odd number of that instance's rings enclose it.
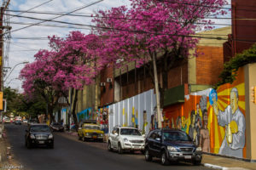
<instances>
[{"instance_id":1,"label":"brown bare-chested painted figure just left of the large white-robed one","mask_svg":"<svg viewBox=\"0 0 256 170\"><path fill-rule=\"evenodd\" d=\"M200 130L200 145L201 150L203 152L210 152L210 136L209 136L209 129L207 128L208 125L208 115L207 110L205 109L202 111L202 128Z\"/></svg>"}]
</instances>

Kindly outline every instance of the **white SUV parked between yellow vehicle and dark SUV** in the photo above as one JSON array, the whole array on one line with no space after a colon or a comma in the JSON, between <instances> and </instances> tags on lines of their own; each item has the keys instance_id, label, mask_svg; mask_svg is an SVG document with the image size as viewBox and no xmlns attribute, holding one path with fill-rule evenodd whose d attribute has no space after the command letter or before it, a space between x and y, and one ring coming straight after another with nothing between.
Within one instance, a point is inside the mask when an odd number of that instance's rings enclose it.
<instances>
[{"instance_id":1,"label":"white SUV parked between yellow vehicle and dark SUV","mask_svg":"<svg viewBox=\"0 0 256 170\"><path fill-rule=\"evenodd\" d=\"M108 135L108 150L118 150L119 154L124 150L141 150L143 153L144 145L144 136L135 127L113 127Z\"/></svg>"}]
</instances>

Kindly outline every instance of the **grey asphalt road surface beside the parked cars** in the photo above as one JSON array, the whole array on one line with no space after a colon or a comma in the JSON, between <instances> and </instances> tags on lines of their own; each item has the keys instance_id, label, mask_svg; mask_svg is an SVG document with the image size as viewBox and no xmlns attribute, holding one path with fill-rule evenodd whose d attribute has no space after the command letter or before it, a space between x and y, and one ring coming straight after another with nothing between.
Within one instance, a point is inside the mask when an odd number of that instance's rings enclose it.
<instances>
[{"instance_id":1,"label":"grey asphalt road surface beside the parked cars","mask_svg":"<svg viewBox=\"0 0 256 170\"><path fill-rule=\"evenodd\" d=\"M209 169L202 166L179 162L169 166L160 165L159 159L152 162L144 160L144 156L117 152L109 152L106 144L79 141L67 134L55 133L55 149L25 147L25 128L23 125L7 124L7 138L11 145L14 159L20 162L25 170L156 170L156 169Z\"/></svg>"}]
</instances>

